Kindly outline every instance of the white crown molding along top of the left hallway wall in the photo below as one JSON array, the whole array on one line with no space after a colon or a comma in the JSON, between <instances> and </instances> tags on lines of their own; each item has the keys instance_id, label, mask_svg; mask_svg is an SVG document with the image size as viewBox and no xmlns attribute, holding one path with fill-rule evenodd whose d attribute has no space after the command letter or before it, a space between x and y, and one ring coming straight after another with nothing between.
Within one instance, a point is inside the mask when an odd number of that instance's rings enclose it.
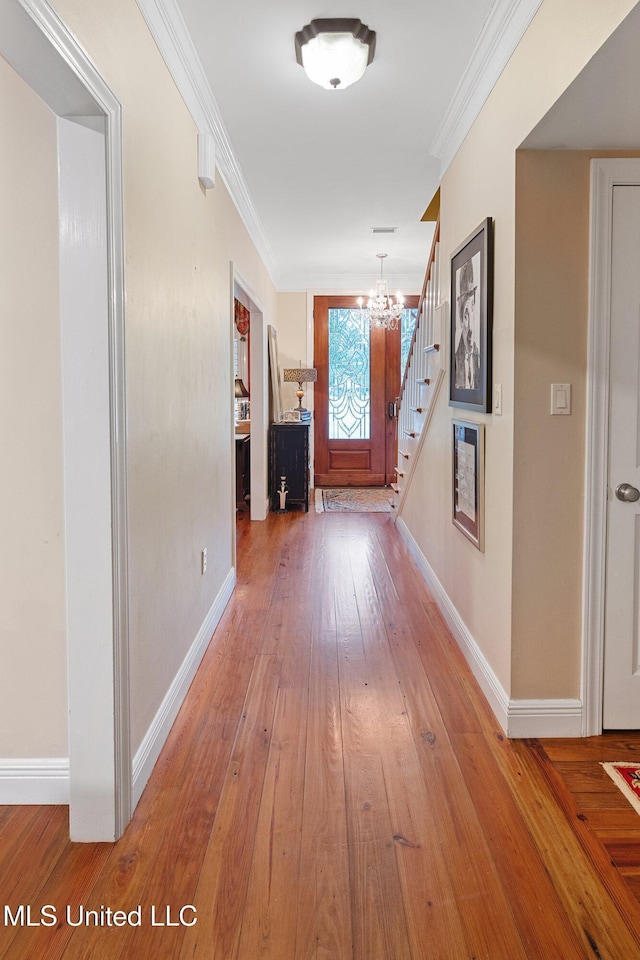
<instances>
[{"instance_id":1,"label":"white crown molding along top of the left hallway wall","mask_svg":"<svg viewBox=\"0 0 640 960\"><path fill-rule=\"evenodd\" d=\"M176 0L136 2L198 132L201 135L212 134L214 137L216 167L272 283L277 288L278 268L275 255Z\"/></svg>"}]
</instances>

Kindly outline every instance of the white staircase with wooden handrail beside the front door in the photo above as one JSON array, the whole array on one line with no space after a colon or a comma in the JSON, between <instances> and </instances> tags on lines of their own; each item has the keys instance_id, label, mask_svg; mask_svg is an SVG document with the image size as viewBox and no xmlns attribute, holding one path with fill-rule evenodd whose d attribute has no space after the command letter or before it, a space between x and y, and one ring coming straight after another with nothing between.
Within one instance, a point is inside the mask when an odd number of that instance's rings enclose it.
<instances>
[{"instance_id":1,"label":"white staircase with wooden handrail beside the front door","mask_svg":"<svg viewBox=\"0 0 640 960\"><path fill-rule=\"evenodd\" d=\"M396 518L411 483L445 374L448 304L440 303L440 223L436 224L418 319L398 401L398 456L391 509Z\"/></svg>"}]
</instances>

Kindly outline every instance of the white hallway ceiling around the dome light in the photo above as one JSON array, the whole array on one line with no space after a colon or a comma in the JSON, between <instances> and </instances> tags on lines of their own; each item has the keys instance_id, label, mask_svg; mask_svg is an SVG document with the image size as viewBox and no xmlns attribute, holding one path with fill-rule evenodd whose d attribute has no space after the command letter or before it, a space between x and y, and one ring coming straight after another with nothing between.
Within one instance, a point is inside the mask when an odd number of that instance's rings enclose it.
<instances>
[{"instance_id":1,"label":"white hallway ceiling around the dome light","mask_svg":"<svg viewBox=\"0 0 640 960\"><path fill-rule=\"evenodd\" d=\"M492 7L522 0L177 2L277 288L368 290L381 252L390 287L419 292L433 233L421 216L442 167L434 140ZM346 90L311 83L295 59L296 31L328 16L377 34L373 63Z\"/></svg>"}]
</instances>

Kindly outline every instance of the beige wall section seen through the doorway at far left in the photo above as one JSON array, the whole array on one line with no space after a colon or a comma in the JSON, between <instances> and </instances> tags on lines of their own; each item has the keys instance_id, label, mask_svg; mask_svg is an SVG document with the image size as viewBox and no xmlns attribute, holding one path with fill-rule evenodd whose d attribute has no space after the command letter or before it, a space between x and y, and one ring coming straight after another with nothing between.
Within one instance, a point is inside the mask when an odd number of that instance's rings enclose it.
<instances>
[{"instance_id":1,"label":"beige wall section seen through the doorway at far left","mask_svg":"<svg viewBox=\"0 0 640 960\"><path fill-rule=\"evenodd\" d=\"M56 118L0 57L0 756L67 754ZM37 710L34 706L37 704Z\"/></svg>"}]
</instances>

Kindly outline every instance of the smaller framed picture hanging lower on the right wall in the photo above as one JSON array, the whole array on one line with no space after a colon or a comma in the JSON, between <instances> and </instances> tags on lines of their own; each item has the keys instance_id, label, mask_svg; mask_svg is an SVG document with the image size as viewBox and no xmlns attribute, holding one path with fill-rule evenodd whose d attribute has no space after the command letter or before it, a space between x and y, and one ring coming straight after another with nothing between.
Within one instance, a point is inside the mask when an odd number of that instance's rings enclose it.
<instances>
[{"instance_id":1,"label":"smaller framed picture hanging lower on the right wall","mask_svg":"<svg viewBox=\"0 0 640 960\"><path fill-rule=\"evenodd\" d=\"M452 420L454 526L484 550L484 424Z\"/></svg>"}]
</instances>

